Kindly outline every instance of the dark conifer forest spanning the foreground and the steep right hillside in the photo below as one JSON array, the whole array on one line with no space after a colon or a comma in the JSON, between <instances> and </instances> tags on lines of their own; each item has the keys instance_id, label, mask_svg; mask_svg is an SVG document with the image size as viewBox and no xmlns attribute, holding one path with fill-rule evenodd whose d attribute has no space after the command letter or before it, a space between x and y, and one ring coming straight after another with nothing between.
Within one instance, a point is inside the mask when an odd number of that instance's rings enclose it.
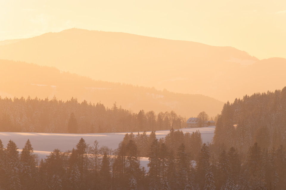
<instances>
[{"instance_id":1,"label":"dark conifer forest spanning the foreground and the steep right hillside","mask_svg":"<svg viewBox=\"0 0 286 190\"><path fill-rule=\"evenodd\" d=\"M209 143L202 143L199 131L171 128L161 139L154 130L127 133L115 150L81 138L72 150L55 149L39 160L29 140L21 153L13 140L6 148L0 141L0 187L283 190L285 100L286 87L225 103ZM149 160L147 168L140 164L142 157Z\"/></svg>"}]
</instances>

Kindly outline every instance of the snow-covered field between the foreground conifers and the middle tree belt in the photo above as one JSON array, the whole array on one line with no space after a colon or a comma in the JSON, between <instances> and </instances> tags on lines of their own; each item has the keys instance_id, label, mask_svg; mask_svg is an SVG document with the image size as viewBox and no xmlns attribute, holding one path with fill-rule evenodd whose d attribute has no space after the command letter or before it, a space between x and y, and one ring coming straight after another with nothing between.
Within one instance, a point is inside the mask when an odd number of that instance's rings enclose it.
<instances>
[{"instance_id":1,"label":"snow-covered field between the foreground conifers and the middle tree belt","mask_svg":"<svg viewBox=\"0 0 286 190\"><path fill-rule=\"evenodd\" d=\"M215 126L201 127L201 128L184 128L180 129L185 132L196 132L199 130L202 135L203 143L211 142L214 136ZM170 130L156 131L158 139L165 137ZM128 132L129 133L129 132ZM142 132L140 132L142 133ZM113 150L118 147L118 144L123 140L124 133L90 133L90 134L66 134L66 133L17 133L17 132L0 132L0 139L4 147L8 141L13 140L18 148L24 147L26 141L31 141L34 153L38 154L39 158L46 158L54 149L58 148L60 151L67 151L75 148L81 137L87 144L93 145L94 141L99 142L99 146L108 146ZM137 134L134 132L133 134ZM150 134L150 132L147 132ZM142 158L141 165L147 169L148 158Z\"/></svg>"}]
</instances>

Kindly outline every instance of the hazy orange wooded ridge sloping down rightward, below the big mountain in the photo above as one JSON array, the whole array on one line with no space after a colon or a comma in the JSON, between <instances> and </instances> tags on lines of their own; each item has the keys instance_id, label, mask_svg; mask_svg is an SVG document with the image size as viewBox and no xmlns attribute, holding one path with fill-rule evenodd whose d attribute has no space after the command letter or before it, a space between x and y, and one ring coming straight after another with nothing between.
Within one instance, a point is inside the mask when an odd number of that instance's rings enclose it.
<instances>
[{"instance_id":1,"label":"hazy orange wooded ridge sloping down rightward, below the big mountain","mask_svg":"<svg viewBox=\"0 0 286 190\"><path fill-rule=\"evenodd\" d=\"M197 116L206 111L210 116L220 113L223 102L203 95L172 93L155 88L93 80L55 67L39 66L19 61L0 59L0 96L57 99L76 97L78 102L101 102L112 107L114 102L123 109L138 113L174 110L183 117Z\"/></svg>"}]
</instances>

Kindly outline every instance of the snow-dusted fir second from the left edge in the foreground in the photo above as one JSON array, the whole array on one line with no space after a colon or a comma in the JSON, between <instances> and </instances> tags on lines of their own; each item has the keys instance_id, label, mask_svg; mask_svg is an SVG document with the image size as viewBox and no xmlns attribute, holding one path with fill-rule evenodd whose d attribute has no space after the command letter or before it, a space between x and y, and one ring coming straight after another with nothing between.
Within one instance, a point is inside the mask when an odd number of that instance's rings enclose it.
<instances>
[{"instance_id":1,"label":"snow-dusted fir second from the left edge in the foreground","mask_svg":"<svg viewBox=\"0 0 286 190\"><path fill-rule=\"evenodd\" d=\"M5 172L7 179L7 188L10 190L21 189L20 178L19 178L19 151L17 145L9 140L7 144Z\"/></svg>"}]
</instances>

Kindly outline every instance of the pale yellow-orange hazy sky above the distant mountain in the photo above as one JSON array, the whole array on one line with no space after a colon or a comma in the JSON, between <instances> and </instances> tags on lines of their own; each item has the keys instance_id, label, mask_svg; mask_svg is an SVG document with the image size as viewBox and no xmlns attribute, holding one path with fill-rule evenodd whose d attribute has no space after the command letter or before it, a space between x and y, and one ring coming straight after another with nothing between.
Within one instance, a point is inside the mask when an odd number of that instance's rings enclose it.
<instances>
[{"instance_id":1,"label":"pale yellow-orange hazy sky above the distant mountain","mask_svg":"<svg viewBox=\"0 0 286 190\"><path fill-rule=\"evenodd\" d=\"M0 0L0 41L72 27L232 46L259 59L286 58L285 0Z\"/></svg>"}]
</instances>

